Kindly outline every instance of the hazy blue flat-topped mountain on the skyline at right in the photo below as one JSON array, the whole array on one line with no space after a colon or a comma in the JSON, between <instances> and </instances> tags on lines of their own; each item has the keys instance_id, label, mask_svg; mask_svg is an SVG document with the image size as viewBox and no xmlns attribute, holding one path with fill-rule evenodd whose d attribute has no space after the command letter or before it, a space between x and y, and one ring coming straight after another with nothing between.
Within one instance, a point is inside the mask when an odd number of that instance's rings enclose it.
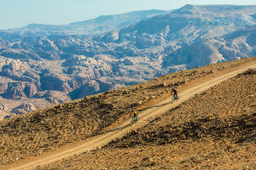
<instances>
[{"instance_id":1,"label":"hazy blue flat-topped mountain on the skyline at right","mask_svg":"<svg viewBox=\"0 0 256 170\"><path fill-rule=\"evenodd\" d=\"M179 45L197 42L201 39L223 36L247 26L255 25L256 6L186 5L170 14L156 15L149 20L142 20L128 26L118 37L102 40L111 42L130 42L137 48L152 46Z\"/></svg>"}]
</instances>

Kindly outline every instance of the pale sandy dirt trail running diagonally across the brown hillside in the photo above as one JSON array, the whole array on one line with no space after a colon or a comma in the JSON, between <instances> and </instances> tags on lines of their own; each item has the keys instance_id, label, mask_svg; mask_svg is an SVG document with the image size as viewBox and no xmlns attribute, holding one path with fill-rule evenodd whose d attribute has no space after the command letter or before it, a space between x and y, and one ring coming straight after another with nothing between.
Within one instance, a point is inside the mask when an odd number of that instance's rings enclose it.
<instances>
[{"instance_id":1,"label":"pale sandy dirt trail running diagonally across the brown hillside","mask_svg":"<svg viewBox=\"0 0 256 170\"><path fill-rule=\"evenodd\" d=\"M37 160L35 158L34 160L26 161L18 165L14 165L15 167L12 167L9 169L11 170L35 169L38 166L44 166L54 161L67 158L68 156L80 154L88 150L95 150L98 147L102 147L108 144L113 139L123 137L126 133L131 132L131 130L133 129L137 129L145 126L148 123L148 121L154 119L155 116L160 116L160 114L163 114L166 111L171 110L177 105L180 105L181 103L183 103L183 101L193 97L195 94L200 94L201 92L207 90L208 88L211 88L220 82L224 82L230 77L235 77L237 74L243 71L246 71L249 68L256 68L256 63L253 62L251 64L243 66L243 68L240 68L236 71L230 71L230 72L224 73L221 76L212 77L212 79L208 81L201 81L201 82L195 83L192 87L187 88L186 90L180 91L178 94L179 100L174 104L172 104L172 98L164 99L160 101L158 104L153 105L148 109L146 109L145 111L139 113L140 122L138 123L134 123L131 125L131 120L127 120L126 122L123 122L118 127L113 128L113 130L109 131L108 133L103 133L96 137L90 138L84 141L83 144L79 144L58 152L53 152L51 153L51 155L48 155L48 156L39 156Z\"/></svg>"}]
</instances>

